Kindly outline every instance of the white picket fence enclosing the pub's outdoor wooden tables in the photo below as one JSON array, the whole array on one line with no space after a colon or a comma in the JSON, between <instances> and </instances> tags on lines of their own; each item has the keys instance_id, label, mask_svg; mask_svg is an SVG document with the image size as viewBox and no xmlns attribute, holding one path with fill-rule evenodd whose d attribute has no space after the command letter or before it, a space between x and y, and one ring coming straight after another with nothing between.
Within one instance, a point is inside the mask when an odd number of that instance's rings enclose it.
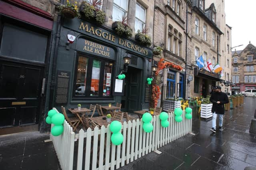
<instances>
[{"instance_id":1,"label":"white picket fence enclosing the pub's outdoor wooden tables","mask_svg":"<svg viewBox=\"0 0 256 170\"><path fill-rule=\"evenodd\" d=\"M118 146L111 143L110 125L95 127L93 131L88 128L86 132L81 129L79 134L74 134L65 121L63 134L51 136L62 170L72 170L73 163L77 163L76 170L82 170L82 166L84 170L118 169L191 132L192 119L186 119L185 112L180 123L174 120L174 113L168 114L170 126L163 128L159 116L154 116L154 129L150 133L144 132L139 119L124 122L121 130L124 141ZM75 140L78 140L77 160L74 160Z\"/></svg>"}]
</instances>

